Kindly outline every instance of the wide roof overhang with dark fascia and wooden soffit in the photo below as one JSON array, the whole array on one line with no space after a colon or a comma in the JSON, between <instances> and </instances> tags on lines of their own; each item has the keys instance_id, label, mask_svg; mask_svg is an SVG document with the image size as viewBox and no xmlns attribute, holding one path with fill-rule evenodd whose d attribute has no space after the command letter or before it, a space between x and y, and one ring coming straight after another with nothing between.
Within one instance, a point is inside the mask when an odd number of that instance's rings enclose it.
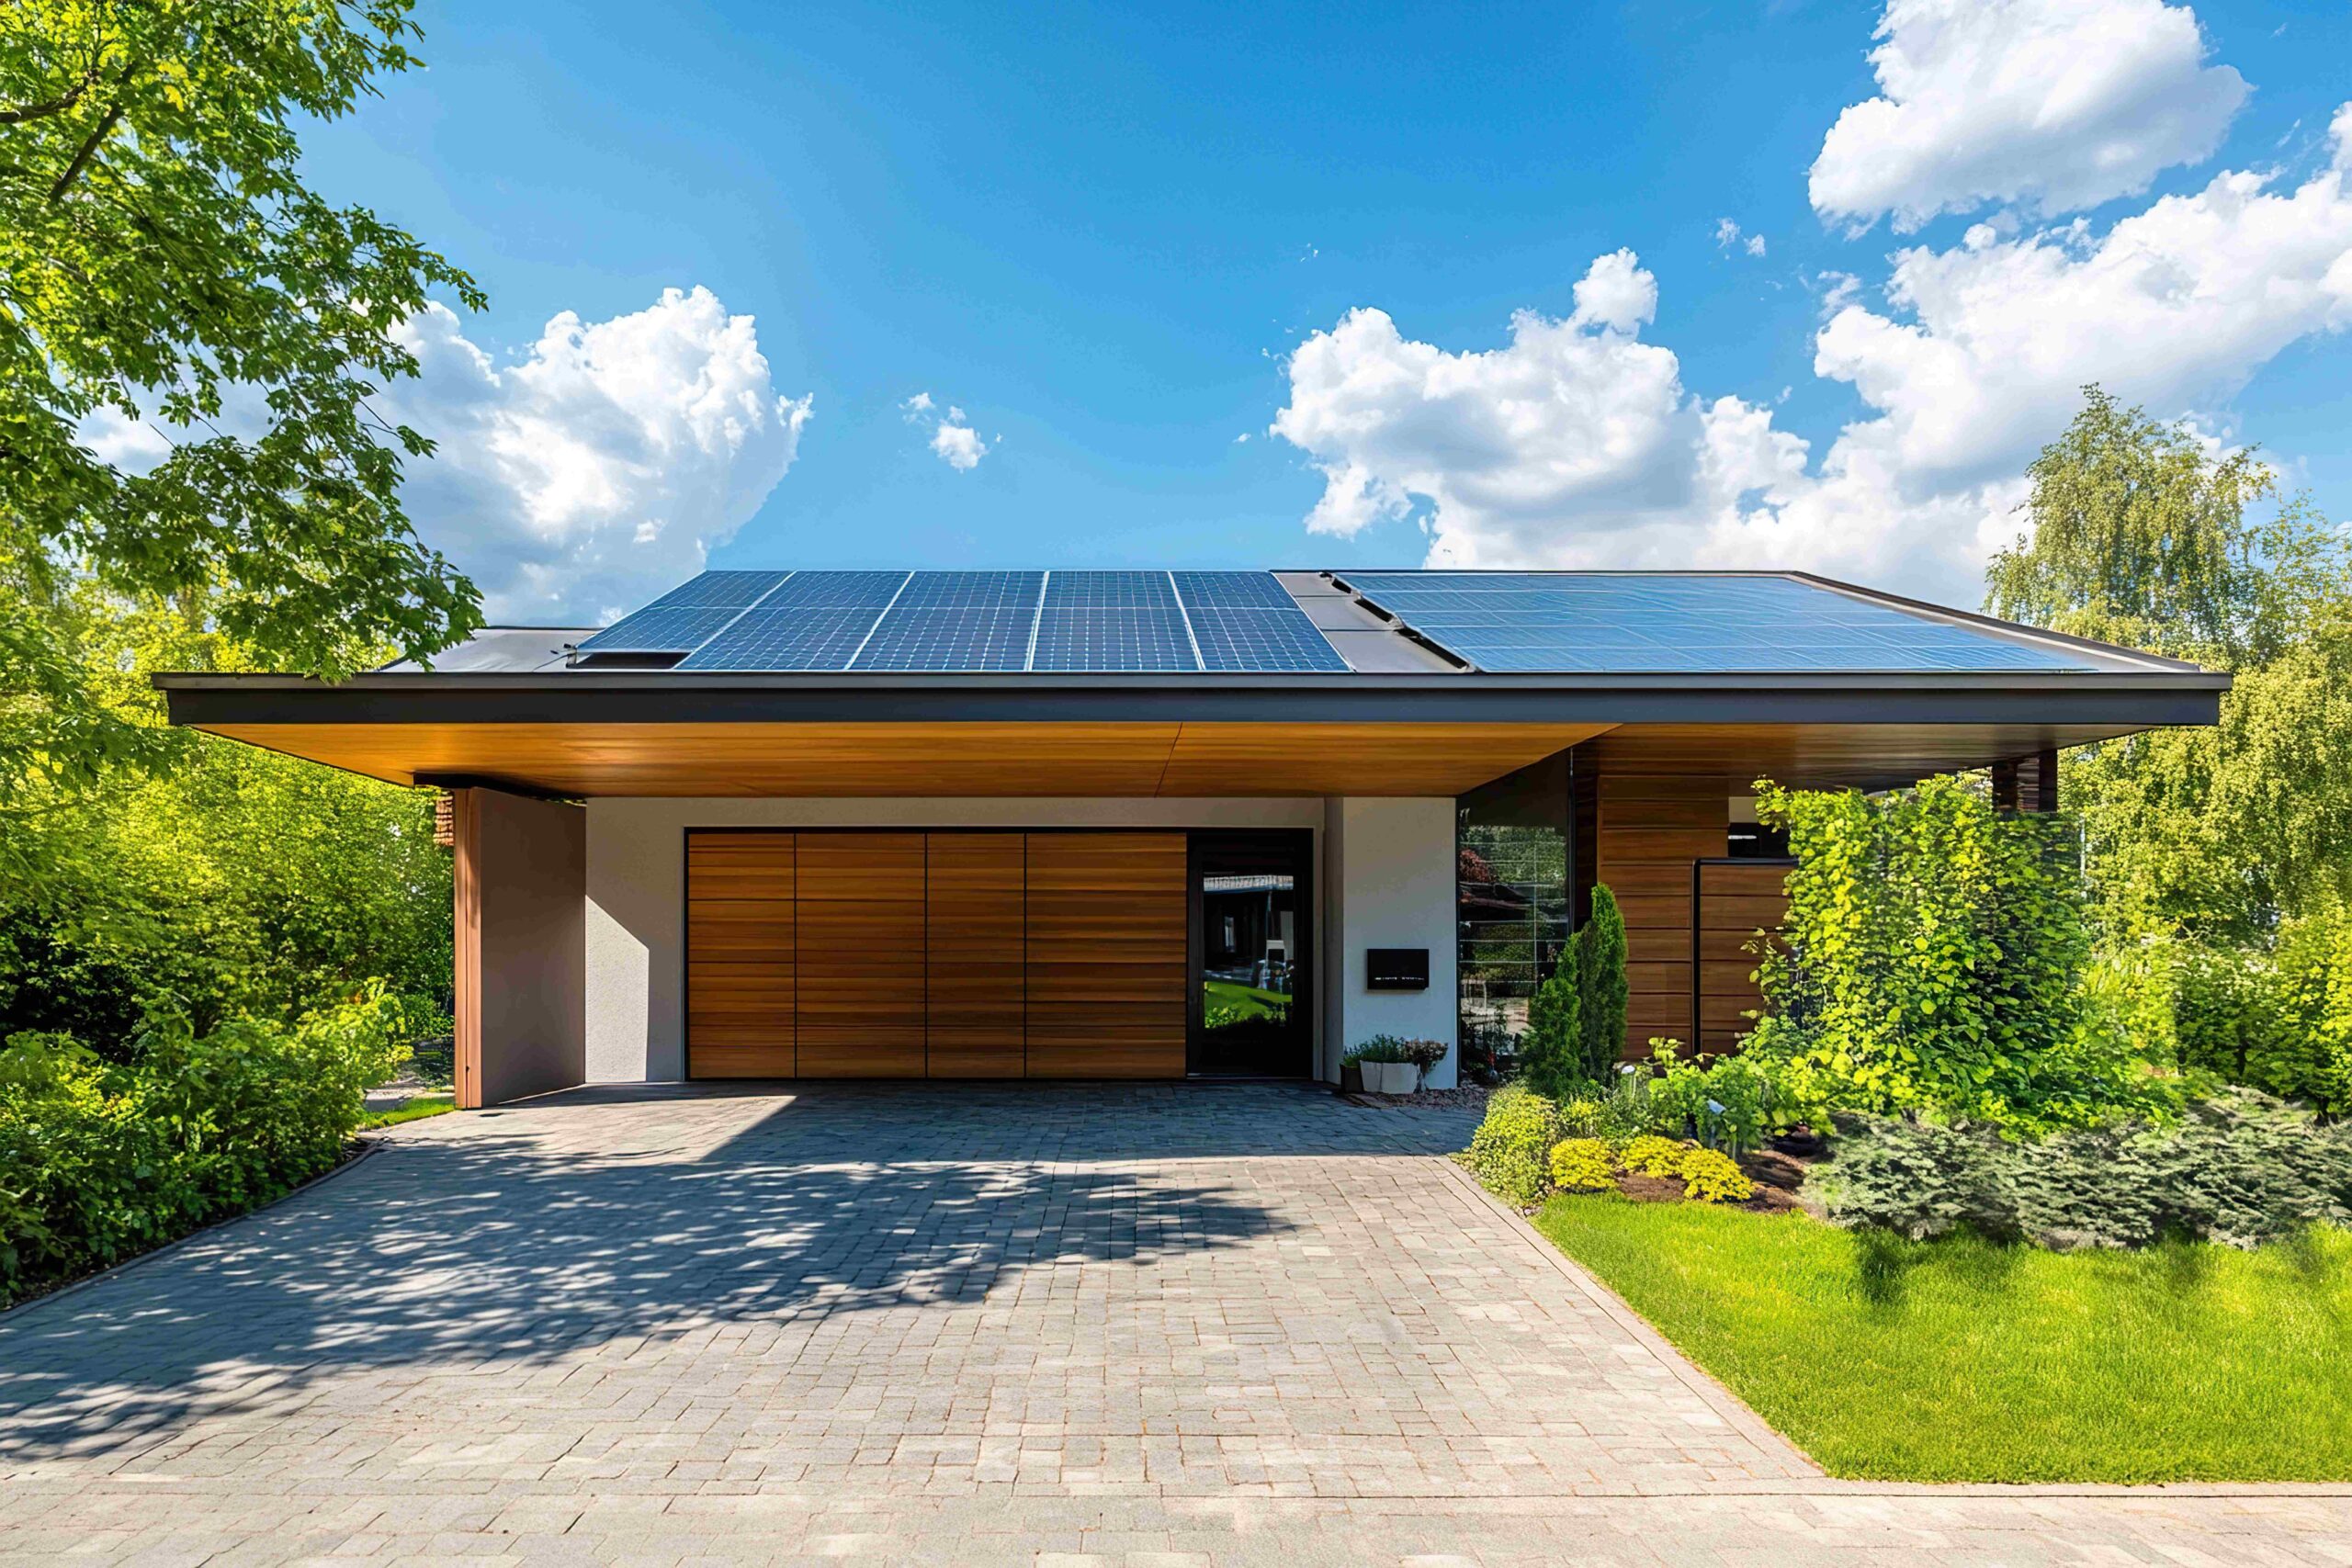
<instances>
[{"instance_id":1,"label":"wide roof overhang with dark fascia and wooden soffit","mask_svg":"<svg viewBox=\"0 0 2352 1568\"><path fill-rule=\"evenodd\" d=\"M2211 724L2204 670L2004 675L160 675L174 724L553 795L1454 795L1611 766L1884 785Z\"/></svg>"}]
</instances>

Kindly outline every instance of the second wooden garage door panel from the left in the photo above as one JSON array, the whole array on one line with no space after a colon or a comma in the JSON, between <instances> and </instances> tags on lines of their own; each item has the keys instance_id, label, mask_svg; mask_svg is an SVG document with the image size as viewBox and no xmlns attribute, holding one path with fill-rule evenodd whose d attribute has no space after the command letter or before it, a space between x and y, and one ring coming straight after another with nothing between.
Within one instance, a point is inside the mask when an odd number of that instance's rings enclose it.
<instances>
[{"instance_id":1,"label":"second wooden garage door panel from the left","mask_svg":"<svg viewBox=\"0 0 2352 1568\"><path fill-rule=\"evenodd\" d=\"M924 835L802 832L800 1077L924 1074Z\"/></svg>"}]
</instances>

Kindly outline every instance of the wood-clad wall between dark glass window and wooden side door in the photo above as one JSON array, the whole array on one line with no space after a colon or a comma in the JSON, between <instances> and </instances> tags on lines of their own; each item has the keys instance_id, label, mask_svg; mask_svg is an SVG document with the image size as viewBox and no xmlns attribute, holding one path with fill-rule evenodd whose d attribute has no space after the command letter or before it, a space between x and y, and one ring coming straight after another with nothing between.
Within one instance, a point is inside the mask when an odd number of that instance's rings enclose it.
<instances>
[{"instance_id":1,"label":"wood-clad wall between dark glass window and wooden side door","mask_svg":"<svg viewBox=\"0 0 2352 1568\"><path fill-rule=\"evenodd\" d=\"M1625 910L1625 1056L1651 1037L1693 1044L1691 863L1722 856L1731 797L1719 778L1602 773L1595 875Z\"/></svg>"}]
</instances>

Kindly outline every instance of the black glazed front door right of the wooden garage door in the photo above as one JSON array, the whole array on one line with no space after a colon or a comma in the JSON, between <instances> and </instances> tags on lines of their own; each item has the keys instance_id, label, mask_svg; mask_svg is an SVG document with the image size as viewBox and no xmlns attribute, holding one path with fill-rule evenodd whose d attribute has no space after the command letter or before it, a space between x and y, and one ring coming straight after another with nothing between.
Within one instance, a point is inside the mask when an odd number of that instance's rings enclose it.
<instances>
[{"instance_id":1,"label":"black glazed front door right of the wooden garage door","mask_svg":"<svg viewBox=\"0 0 2352 1568\"><path fill-rule=\"evenodd\" d=\"M1195 1074L1312 1077L1312 835L1192 835Z\"/></svg>"}]
</instances>

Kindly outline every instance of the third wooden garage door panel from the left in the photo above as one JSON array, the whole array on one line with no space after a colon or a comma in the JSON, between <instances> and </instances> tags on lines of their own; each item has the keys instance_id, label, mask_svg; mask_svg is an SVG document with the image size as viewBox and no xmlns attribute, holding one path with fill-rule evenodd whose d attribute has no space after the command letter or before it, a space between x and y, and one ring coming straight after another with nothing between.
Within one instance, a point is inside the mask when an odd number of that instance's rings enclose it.
<instances>
[{"instance_id":1,"label":"third wooden garage door panel from the left","mask_svg":"<svg viewBox=\"0 0 2352 1568\"><path fill-rule=\"evenodd\" d=\"M929 870L929 1074L1018 1079L1028 1072L1025 837L934 832Z\"/></svg>"}]
</instances>

